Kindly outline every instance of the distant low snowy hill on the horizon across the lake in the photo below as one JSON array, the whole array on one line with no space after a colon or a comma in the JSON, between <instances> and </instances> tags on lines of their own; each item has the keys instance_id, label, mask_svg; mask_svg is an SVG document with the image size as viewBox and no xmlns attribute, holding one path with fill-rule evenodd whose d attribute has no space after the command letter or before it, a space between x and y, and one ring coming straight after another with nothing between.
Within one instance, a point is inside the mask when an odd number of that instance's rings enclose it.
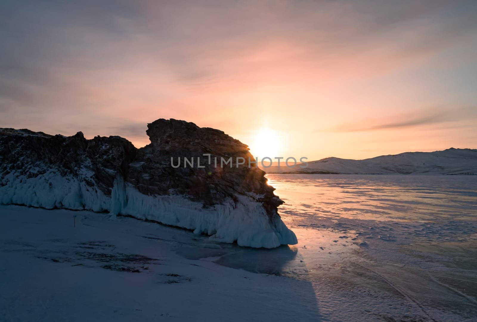
<instances>
[{"instance_id":1,"label":"distant low snowy hill on the horizon across the lake","mask_svg":"<svg viewBox=\"0 0 477 322\"><path fill-rule=\"evenodd\" d=\"M273 166L263 168L267 173L321 174L477 174L477 150L454 149L434 152L404 152L395 155L351 160L325 158L308 162L307 168Z\"/></svg>"}]
</instances>

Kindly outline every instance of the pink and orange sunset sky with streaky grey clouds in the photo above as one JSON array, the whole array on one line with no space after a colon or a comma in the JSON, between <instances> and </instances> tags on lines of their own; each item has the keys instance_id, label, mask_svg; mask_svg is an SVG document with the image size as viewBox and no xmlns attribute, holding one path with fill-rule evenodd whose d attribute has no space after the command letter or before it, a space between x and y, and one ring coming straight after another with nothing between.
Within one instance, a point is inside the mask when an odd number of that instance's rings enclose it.
<instances>
[{"instance_id":1,"label":"pink and orange sunset sky with streaky grey clouds","mask_svg":"<svg viewBox=\"0 0 477 322\"><path fill-rule=\"evenodd\" d=\"M221 129L318 160L477 148L477 1L0 2L0 127Z\"/></svg>"}]
</instances>

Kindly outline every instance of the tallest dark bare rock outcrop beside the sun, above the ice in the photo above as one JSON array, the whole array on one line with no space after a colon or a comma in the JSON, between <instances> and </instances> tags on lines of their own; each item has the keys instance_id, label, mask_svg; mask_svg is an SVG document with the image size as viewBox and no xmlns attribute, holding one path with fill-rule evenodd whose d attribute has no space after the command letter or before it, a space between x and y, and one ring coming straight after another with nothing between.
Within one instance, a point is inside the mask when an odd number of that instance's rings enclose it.
<instances>
[{"instance_id":1,"label":"tallest dark bare rock outcrop beside the sun, above the ice","mask_svg":"<svg viewBox=\"0 0 477 322\"><path fill-rule=\"evenodd\" d=\"M237 193L253 193L259 196L257 200L270 216L277 214L277 206L283 202L267 184L265 172L254 163L249 168L249 159L252 162L254 159L247 145L220 130L199 128L194 123L175 119L160 118L147 128L151 144L138 150L127 177L141 193L167 194L173 190L205 206L220 204L227 197L235 198ZM185 165L184 157L193 160L194 166ZM178 168L171 166L171 158L174 165L180 164ZM232 158L232 167L229 164L221 167L221 158L225 161ZM237 166L237 158L243 158L245 163ZM198 168L198 164L204 168Z\"/></svg>"}]
</instances>

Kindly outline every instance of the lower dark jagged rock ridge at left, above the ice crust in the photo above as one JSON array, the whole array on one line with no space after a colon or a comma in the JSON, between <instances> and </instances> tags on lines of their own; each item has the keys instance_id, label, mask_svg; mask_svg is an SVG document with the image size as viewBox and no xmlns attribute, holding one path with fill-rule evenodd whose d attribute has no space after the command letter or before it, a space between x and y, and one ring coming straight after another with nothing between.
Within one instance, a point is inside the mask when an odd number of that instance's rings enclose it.
<instances>
[{"instance_id":1,"label":"lower dark jagged rock ridge at left, above the ice crust","mask_svg":"<svg viewBox=\"0 0 477 322\"><path fill-rule=\"evenodd\" d=\"M86 140L82 132L71 137L49 135L28 129L0 129L0 173L16 171L28 177L54 169L62 176L78 177L80 172L89 186L97 186L111 195L116 175L127 175L128 165L137 149L128 140L118 137L95 137ZM32 168L37 171L31 171Z\"/></svg>"}]
</instances>

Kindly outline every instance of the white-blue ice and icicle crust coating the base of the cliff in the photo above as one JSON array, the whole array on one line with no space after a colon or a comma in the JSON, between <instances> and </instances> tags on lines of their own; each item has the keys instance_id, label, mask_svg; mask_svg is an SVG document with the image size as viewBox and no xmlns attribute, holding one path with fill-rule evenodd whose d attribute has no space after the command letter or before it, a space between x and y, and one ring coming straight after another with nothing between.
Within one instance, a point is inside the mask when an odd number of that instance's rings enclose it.
<instances>
[{"instance_id":1,"label":"white-blue ice and icicle crust coating the base of the cliff","mask_svg":"<svg viewBox=\"0 0 477 322\"><path fill-rule=\"evenodd\" d=\"M240 246L273 248L296 244L296 236L280 216L270 218L254 193L236 195L223 204L204 207L183 195L145 195L121 177L114 180L110 196L84 180L64 177L55 170L29 178L10 172L0 176L0 204L46 209L91 210L111 215L131 215L207 234L211 240Z\"/></svg>"}]
</instances>

